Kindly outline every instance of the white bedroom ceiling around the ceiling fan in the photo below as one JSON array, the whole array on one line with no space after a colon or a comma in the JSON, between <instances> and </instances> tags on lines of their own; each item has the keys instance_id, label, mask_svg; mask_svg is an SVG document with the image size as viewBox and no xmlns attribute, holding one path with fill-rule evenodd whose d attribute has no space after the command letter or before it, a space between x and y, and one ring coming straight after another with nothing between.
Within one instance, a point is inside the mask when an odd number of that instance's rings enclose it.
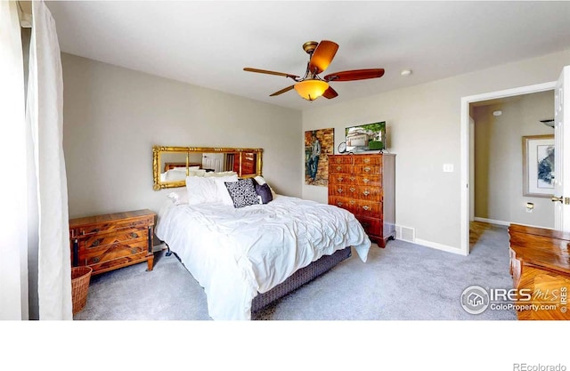
<instances>
[{"instance_id":1,"label":"white bedroom ceiling around the ceiling fan","mask_svg":"<svg viewBox=\"0 0 570 371\"><path fill-rule=\"evenodd\" d=\"M570 49L570 2L46 2L62 52L293 109L334 104ZM386 69L384 77L331 83L309 102L285 77L303 76L306 41L338 52L321 76ZM409 77L402 69L412 69Z\"/></svg>"}]
</instances>

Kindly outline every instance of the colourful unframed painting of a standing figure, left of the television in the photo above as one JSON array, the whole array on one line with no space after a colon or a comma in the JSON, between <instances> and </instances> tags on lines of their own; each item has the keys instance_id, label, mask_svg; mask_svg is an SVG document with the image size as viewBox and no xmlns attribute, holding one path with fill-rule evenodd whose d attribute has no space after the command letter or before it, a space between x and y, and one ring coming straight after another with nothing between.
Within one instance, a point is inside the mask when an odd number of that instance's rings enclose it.
<instances>
[{"instance_id":1,"label":"colourful unframed painting of a standing figure, left of the television","mask_svg":"<svg viewBox=\"0 0 570 371\"><path fill-rule=\"evenodd\" d=\"M329 155L335 144L335 129L305 132L305 184L329 186Z\"/></svg>"}]
</instances>

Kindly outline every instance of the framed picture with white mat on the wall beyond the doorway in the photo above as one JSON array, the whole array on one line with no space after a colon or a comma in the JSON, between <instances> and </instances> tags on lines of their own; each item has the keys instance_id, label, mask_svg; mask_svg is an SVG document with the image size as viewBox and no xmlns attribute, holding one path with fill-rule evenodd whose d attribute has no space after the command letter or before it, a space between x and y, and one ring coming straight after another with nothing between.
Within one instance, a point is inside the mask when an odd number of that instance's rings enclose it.
<instances>
[{"instance_id":1,"label":"framed picture with white mat on the wall beyond the doorway","mask_svg":"<svg viewBox=\"0 0 570 371\"><path fill-rule=\"evenodd\" d=\"M550 198L554 176L554 135L524 136L523 196Z\"/></svg>"}]
</instances>

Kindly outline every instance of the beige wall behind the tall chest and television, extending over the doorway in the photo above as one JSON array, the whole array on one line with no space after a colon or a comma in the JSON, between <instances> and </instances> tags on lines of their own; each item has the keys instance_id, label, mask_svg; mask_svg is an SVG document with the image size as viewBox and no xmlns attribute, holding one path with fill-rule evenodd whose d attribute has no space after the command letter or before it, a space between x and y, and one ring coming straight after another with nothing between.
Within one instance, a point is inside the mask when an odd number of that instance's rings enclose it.
<instances>
[{"instance_id":1,"label":"beige wall behind the tall chest and television, extending over the doorway","mask_svg":"<svg viewBox=\"0 0 570 371\"><path fill-rule=\"evenodd\" d=\"M461 97L554 81L569 64L570 51L558 52L330 107L306 109L303 130L334 127L338 145L343 141L339 133L346 126L386 120L388 149L396 154L396 224L414 228L419 243L459 251ZM382 84L381 79L378 84ZM342 97L342 85L335 85L337 88ZM444 164L454 165L454 172L444 173ZM327 189L303 185L303 197L327 202Z\"/></svg>"}]
</instances>

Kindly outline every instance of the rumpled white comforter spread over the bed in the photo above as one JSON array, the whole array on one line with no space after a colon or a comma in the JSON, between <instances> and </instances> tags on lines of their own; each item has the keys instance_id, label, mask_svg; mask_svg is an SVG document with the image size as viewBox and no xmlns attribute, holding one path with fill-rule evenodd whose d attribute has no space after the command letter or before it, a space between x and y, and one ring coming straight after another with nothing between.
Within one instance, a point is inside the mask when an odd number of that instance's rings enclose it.
<instances>
[{"instance_id":1,"label":"rumpled white comforter spread over the bed","mask_svg":"<svg viewBox=\"0 0 570 371\"><path fill-rule=\"evenodd\" d=\"M278 195L266 205L169 204L156 235L203 286L212 319L250 319L251 301L324 254L371 241L353 214Z\"/></svg>"}]
</instances>

